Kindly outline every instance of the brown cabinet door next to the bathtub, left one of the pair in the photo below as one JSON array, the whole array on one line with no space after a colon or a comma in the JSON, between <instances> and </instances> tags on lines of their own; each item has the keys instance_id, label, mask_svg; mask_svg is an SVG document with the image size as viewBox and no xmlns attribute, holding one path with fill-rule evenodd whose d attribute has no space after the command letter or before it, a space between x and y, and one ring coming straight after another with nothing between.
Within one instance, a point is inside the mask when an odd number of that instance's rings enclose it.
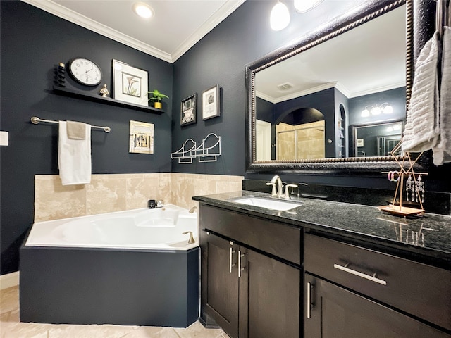
<instances>
[{"instance_id":1,"label":"brown cabinet door next to the bathtub, left one of the pair","mask_svg":"<svg viewBox=\"0 0 451 338\"><path fill-rule=\"evenodd\" d=\"M238 246L201 232L202 309L206 324L212 318L230 337L238 337Z\"/></svg>"}]
</instances>

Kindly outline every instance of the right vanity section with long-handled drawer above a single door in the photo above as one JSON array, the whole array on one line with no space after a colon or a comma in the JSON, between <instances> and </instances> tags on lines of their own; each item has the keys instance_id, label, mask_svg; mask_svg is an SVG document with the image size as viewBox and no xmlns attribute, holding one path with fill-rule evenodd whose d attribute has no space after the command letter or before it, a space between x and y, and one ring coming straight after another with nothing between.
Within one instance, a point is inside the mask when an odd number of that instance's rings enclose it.
<instances>
[{"instance_id":1,"label":"right vanity section with long-handled drawer above a single door","mask_svg":"<svg viewBox=\"0 0 451 338\"><path fill-rule=\"evenodd\" d=\"M311 234L304 245L304 337L450 338L433 327L450 330L450 271Z\"/></svg>"}]
</instances>

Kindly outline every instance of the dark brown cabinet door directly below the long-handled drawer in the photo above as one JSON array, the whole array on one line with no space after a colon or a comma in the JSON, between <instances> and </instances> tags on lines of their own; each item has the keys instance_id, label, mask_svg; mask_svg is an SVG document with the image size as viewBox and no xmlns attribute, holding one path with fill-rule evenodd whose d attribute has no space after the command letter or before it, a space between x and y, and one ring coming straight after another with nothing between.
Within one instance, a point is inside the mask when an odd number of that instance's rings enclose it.
<instances>
[{"instance_id":1,"label":"dark brown cabinet door directly below the long-handled drawer","mask_svg":"<svg viewBox=\"0 0 451 338\"><path fill-rule=\"evenodd\" d=\"M450 338L407 315L305 274L304 337Z\"/></svg>"}]
</instances>

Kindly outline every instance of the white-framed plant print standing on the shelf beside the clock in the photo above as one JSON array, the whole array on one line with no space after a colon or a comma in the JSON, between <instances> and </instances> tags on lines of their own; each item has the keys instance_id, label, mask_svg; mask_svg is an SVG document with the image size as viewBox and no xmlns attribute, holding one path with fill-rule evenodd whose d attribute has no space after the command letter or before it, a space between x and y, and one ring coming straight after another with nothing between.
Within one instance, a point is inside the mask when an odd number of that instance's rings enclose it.
<instances>
[{"instance_id":1,"label":"white-framed plant print standing on the shelf beside the clock","mask_svg":"<svg viewBox=\"0 0 451 338\"><path fill-rule=\"evenodd\" d=\"M113 60L113 99L149 106L149 77L146 70Z\"/></svg>"}]
</instances>

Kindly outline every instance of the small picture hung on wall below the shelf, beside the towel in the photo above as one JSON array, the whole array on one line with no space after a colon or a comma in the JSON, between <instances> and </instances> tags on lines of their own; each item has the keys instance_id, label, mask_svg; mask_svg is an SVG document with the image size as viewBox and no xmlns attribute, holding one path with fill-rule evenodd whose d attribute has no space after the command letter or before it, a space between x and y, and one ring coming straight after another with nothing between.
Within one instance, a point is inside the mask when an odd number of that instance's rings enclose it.
<instances>
[{"instance_id":1,"label":"small picture hung on wall below the shelf, beside the towel","mask_svg":"<svg viewBox=\"0 0 451 338\"><path fill-rule=\"evenodd\" d=\"M154 124L130 120L129 153L154 154Z\"/></svg>"}]
</instances>

